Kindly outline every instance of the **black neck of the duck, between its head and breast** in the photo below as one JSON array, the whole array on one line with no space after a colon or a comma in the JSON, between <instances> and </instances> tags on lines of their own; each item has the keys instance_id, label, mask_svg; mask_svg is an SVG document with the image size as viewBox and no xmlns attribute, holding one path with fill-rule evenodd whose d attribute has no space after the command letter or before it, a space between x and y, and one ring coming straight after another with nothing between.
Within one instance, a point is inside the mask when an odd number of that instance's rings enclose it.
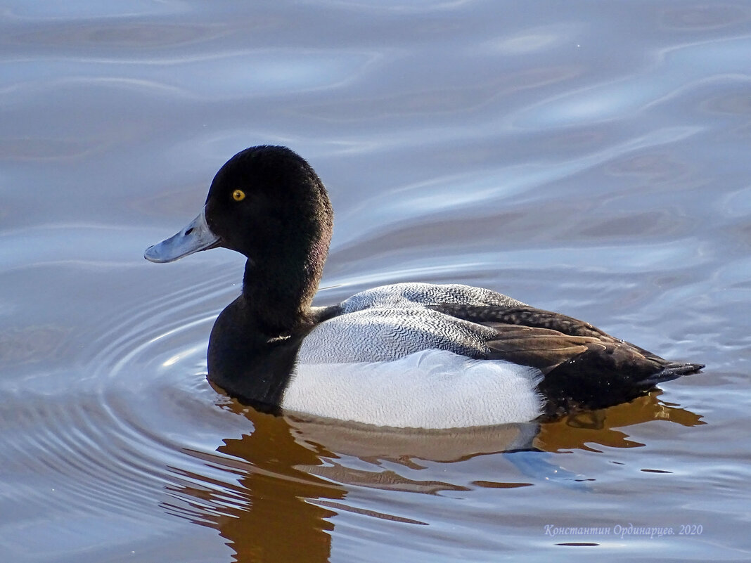
<instances>
[{"instance_id":1,"label":"black neck of the duck, between its head and breast","mask_svg":"<svg viewBox=\"0 0 751 563\"><path fill-rule=\"evenodd\" d=\"M243 298L249 319L268 338L304 330L312 324L310 306L318 290L328 240L306 248L271 251L249 258L243 275Z\"/></svg>"}]
</instances>

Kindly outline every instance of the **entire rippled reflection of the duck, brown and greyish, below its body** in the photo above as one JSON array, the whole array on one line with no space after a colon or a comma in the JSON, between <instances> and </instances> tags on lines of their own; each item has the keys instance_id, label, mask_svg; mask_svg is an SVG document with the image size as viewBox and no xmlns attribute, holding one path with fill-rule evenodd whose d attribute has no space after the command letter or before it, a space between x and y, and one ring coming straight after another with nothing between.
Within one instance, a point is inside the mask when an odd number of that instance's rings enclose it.
<instances>
[{"instance_id":1,"label":"entire rippled reflection of the duck, brown and greyish, below its body","mask_svg":"<svg viewBox=\"0 0 751 563\"><path fill-rule=\"evenodd\" d=\"M339 513L426 523L358 507L357 501L345 499L356 488L434 495L476 487L513 489L541 480L586 486L586 480L578 478L581 476L557 465L557 452L575 448L596 451L598 444L644 445L630 440L626 429L651 420L683 426L703 424L697 414L659 402L658 394L550 423L445 431L391 430L301 416L275 417L233 400L222 407L247 417L252 433L225 440L216 454L190 452L204 459L211 471L185 477L205 486L183 485L173 493L182 499L192 498L193 521L217 528L234 550L236 561L328 561L333 516ZM453 477L449 472L446 480L415 479L415 472L427 466L456 464L488 454L502 456L493 476L513 476L510 480L466 480L478 476L469 476L460 467ZM504 471L504 464L508 471ZM216 468L236 475L237 480L208 477ZM523 479L518 478L520 474ZM174 511L173 507L170 512ZM185 510L181 512L185 516Z\"/></svg>"}]
</instances>

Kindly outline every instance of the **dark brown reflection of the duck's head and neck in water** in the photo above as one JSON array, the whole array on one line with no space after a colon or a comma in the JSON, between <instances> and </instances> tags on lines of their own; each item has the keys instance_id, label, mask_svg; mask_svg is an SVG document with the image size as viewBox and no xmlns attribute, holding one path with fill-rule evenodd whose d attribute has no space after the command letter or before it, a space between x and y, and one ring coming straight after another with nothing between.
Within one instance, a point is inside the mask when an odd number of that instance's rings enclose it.
<instances>
[{"instance_id":1,"label":"dark brown reflection of the duck's head and neck in water","mask_svg":"<svg viewBox=\"0 0 751 563\"><path fill-rule=\"evenodd\" d=\"M252 434L225 440L217 448L222 456L191 452L207 465L224 466L238 475L230 492L214 495L196 486L175 492L198 499L193 507L203 510L198 509L194 521L217 528L237 561L328 561L333 529L329 519L335 512L315 499L342 499L345 488L298 468L322 461L315 450L297 444L283 418L254 412L252 423ZM198 474L189 477L205 480ZM216 490L216 483L207 486ZM176 507L167 508L173 512Z\"/></svg>"}]
</instances>

